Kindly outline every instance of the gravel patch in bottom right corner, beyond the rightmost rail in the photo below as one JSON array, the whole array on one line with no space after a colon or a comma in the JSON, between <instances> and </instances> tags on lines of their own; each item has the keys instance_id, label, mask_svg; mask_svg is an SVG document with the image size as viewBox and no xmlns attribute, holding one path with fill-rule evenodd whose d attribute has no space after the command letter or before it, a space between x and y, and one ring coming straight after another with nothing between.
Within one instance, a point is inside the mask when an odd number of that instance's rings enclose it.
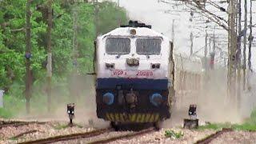
<instances>
[{"instance_id":1,"label":"gravel patch in bottom right corner, beyond the rightmost rail","mask_svg":"<svg viewBox=\"0 0 256 144\"><path fill-rule=\"evenodd\" d=\"M256 132L248 132L248 131L231 131L226 132L220 135L218 138L215 138L211 144L218 143L242 143L242 144L250 144L256 143Z\"/></svg>"}]
</instances>

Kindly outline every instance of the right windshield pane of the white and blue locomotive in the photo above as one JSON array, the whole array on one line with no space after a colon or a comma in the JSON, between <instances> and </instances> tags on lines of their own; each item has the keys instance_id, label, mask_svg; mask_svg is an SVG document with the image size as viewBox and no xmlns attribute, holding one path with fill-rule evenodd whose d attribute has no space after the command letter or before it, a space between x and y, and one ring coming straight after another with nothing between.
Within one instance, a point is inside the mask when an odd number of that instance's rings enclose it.
<instances>
[{"instance_id":1,"label":"right windshield pane of the white and blue locomotive","mask_svg":"<svg viewBox=\"0 0 256 144\"><path fill-rule=\"evenodd\" d=\"M162 40L160 38L138 38L137 54L160 54Z\"/></svg>"}]
</instances>

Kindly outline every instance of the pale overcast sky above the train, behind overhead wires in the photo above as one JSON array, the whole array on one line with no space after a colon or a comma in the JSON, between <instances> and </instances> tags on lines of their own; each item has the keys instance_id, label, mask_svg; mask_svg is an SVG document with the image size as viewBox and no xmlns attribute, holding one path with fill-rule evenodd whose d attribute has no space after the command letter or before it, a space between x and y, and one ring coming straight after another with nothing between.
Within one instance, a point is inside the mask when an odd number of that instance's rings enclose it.
<instances>
[{"instance_id":1,"label":"pale overcast sky above the train, behind overhead wires","mask_svg":"<svg viewBox=\"0 0 256 144\"><path fill-rule=\"evenodd\" d=\"M112 0L118 2L118 0ZM158 3L158 0L119 0L119 6L124 7L132 20L138 20L146 24L152 25L152 29L162 34L165 34L168 38L172 39L171 29L172 22L174 22L174 50L176 53L190 54L190 32L194 35L198 35L198 38L194 38L194 51L201 49L205 46L204 32L198 33L198 30L193 29L197 27L197 22L190 22L190 12L185 11L182 13L174 12L177 10L175 7L166 5L164 3ZM254 6L255 7L255 6ZM171 14L166 14L166 10L172 10ZM253 8L254 10L254 8ZM198 16L198 15L197 15ZM254 17L255 18L255 17ZM255 21L254 21L255 23ZM192 28L191 28L192 27ZM202 30L204 30L202 28ZM210 32L209 32L210 33ZM211 32L213 33L213 32ZM249 32L248 32L249 33ZM255 30L254 30L255 33ZM225 30L216 30L215 34L226 35ZM227 51L225 49L223 50ZM252 48L252 62L253 69L256 70L256 48ZM204 50L198 52L199 55L203 55ZM217 52L218 53L218 52Z\"/></svg>"}]
</instances>

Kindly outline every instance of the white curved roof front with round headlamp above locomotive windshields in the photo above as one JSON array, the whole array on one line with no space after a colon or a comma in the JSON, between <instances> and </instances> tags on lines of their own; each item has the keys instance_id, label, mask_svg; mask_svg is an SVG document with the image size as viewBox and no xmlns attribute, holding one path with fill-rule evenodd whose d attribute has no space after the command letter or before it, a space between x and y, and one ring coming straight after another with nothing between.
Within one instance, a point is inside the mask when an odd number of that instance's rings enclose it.
<instances>
[{"instance_id":1,"label":"white curved roof front with round headlamp above locomotive windshields","mask_svg":"<svg viewBox=\"0 0 256 144\"><path fill-rule=\"evenodd\" d=\"M130 34L130 30L136 30L136 34L132 35ZM155 30L151 30L146 27L118 27L114 30L111 30L109 33L103 34L99 36L98 38L105 38L106 36L139 36L139 37L161 37L165 40L169 40L166 36L163 34L160 34L156 32Z\"/></svg>"}]
</instances>

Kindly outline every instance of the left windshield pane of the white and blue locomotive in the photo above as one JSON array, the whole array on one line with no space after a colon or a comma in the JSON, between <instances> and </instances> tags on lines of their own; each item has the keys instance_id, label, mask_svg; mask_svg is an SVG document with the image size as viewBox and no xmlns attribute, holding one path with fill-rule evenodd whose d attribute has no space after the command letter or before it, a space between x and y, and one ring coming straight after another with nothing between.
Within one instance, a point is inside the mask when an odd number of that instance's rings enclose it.
<instances>
[{"instance_id":1,"label":"left windshield pane of the white and blue locomotive","mask_svg":"<svg viewBox=\"0 0 256 144\"><path fill-rule=\"evenodd\" d=\"M106 38L106 54L129 54L130 38Z\"/></svg>"}]
</instances>

